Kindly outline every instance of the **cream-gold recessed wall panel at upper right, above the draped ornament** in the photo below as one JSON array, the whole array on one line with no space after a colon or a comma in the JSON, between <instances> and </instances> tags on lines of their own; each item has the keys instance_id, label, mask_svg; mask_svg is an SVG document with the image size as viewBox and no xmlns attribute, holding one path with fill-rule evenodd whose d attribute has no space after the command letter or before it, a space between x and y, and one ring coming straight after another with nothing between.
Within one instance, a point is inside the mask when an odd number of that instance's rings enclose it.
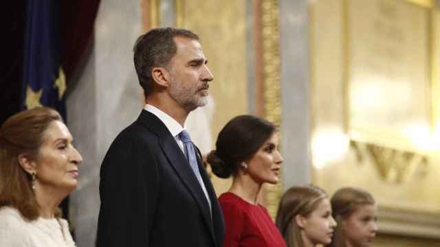
<instances>
[{"instance_id":1,"label":"cream-gold recessed wall panel at upper right, above the draped ornament","mask_svg":"<svg viewBox=\"0 0 440 247\"><path fill-rule=\"evenodd\" d=\"M432 120L429 12L406 1L347 1L351 138L423 151Z\"/></svg>"}]
</instances>

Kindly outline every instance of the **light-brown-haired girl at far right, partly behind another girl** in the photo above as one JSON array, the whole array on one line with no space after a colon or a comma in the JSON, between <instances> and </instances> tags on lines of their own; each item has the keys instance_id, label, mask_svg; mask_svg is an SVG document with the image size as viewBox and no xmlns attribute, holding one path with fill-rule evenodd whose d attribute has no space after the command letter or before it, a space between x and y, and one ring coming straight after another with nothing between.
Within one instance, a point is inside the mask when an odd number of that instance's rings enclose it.
<instances>
[{"instance_id":1,"label":"light-brown-haired girl at far right, partly behind another girl","mask_svg":"<svg viewBox=\"0 0 440 247\"><path fill-rule=\"evenodd\" d=\"M338 228L331 247L367 247L377 231L377 207L373 196L363 189L346 187L331 198Z\"/></svg>"}]
</instances>

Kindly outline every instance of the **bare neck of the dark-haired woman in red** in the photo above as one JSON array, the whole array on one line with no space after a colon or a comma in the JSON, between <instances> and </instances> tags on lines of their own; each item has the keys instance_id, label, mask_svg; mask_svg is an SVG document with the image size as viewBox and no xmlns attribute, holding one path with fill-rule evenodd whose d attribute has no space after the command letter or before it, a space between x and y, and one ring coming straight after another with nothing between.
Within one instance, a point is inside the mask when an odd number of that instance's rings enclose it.
<instances>
[{"instance_id":1,"label":"bare neck of the dark-haired woman in red","mask_svg":"<svg viewBox=\"0 0 440 247\"><path fill-rule=\"evenodd\" d=\"M236 194L250 204L258 204L261 185L261 183L256 183L250 176L239 172L239 174L234 176L229 192Z\"/></svg>"}]
</instances>

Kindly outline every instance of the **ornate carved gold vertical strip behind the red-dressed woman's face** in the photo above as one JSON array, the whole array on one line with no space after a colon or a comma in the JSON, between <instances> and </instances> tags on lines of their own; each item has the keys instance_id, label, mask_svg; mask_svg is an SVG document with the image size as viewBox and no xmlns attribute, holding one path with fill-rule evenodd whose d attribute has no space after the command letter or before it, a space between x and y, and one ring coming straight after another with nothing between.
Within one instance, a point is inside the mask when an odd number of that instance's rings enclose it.
<instances>
[{"instance_id":1,"label":"ornate carved gold vertical strip behind the red-dressed woman's face","mask_svg":"<svg viewBox=\"0 0 440 247\"><path fill-rule=\"evenodd\" d=\"M281 126L281 84L279 51L279 10L277 0L261 1L261 40L263 43L264 116ZM282 174L279 175L282 177ZM264 196L267 211L275 218L283 183L265 185Z\"/></svg>"}]
</instances>

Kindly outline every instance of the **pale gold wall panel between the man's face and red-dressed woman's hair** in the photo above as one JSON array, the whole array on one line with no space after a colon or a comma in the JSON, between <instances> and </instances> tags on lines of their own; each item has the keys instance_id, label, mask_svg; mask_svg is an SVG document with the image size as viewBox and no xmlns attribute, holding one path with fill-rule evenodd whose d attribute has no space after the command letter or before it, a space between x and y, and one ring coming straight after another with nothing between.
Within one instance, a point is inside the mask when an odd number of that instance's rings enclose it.
<instances>
[{"instance_id":1,"label":"pale gold wall panel between the man's face and red-dressed woman's hair","mask_svg":"<svg viewBox=\"0 0 440 247\"><path fill-rule=\"evenodd\" d=\"M210 83L210 95L214 99L211 122L214 143L232 117L248 113L245 8L245 1L176 1L177 27L200 36L208 67L214 75ZM212 183L217 195L231 185L230 180L215 176Z\"/></svg>"}]
</instances>

